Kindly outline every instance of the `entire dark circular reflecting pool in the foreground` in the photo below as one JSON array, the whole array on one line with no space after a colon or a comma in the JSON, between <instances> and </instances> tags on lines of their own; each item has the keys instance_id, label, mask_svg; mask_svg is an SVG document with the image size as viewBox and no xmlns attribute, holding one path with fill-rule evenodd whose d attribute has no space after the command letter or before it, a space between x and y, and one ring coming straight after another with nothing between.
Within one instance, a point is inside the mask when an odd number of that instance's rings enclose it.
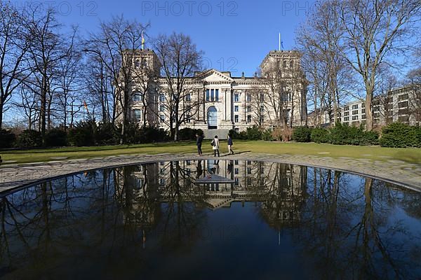
<instances>
[{"instance_id":1,"label":"entire dark circular reflecting pool in the foreground","mask_svg":"<svg viewBox=\"0 0 421 280\"><path fill-rule=\"evenodd\" d=\"M420 279L421 194L243 160L85 172L1 197L4 279Z\"/></svg>"}]
</instances>

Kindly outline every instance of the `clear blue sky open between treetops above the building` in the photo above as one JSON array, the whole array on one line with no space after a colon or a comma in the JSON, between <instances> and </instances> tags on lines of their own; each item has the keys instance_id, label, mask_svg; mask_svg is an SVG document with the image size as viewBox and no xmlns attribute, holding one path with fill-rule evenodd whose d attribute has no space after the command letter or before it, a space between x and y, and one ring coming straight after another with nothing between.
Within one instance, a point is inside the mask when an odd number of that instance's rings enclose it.
<instances>
[{"instance_id":1,"label":"clear blue sky open between treetops above the building","mask_svg":"<svg viewBox=\"0 0 421 280\"><path fill-rule=\"evenodd\" d=\"M25 2L22 2L22 5ZM314 1L45 1L60 22L95 31L100 20L123 14L150 22L149 36L182 32L205 52L205 64L241 76L252 76L269 50L278 48L281 32L285 50L295 46L295 29ZM19 4L19 3L18 3ZM148 43L148 41L146 41ZM210 68L210 67L209 67Z\"/></svg>"}]
</instances>

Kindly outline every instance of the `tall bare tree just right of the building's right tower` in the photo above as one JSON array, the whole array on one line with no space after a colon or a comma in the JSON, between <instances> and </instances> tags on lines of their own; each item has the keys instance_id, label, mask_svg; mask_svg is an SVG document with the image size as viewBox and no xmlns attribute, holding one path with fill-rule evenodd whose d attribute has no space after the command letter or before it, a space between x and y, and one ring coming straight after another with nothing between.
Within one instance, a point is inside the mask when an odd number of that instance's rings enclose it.
<instances>
[{"instance_id":1,"label":"tall bare tree just right of the building's right tower","mask_svg":"<svg viewBox=\"0 0 421 280\"><path fill-rule=\"evenodd\" d=\"M297 32L297 41L305 53L304 71L312 79L313 100L320 102L320 110L328 111L329 123L340 116L340 100L351 83L341 53L343 29L338 1L318 1L307 22ZM297 71L295 74L300 75ZM344 87L343 85L347 85ZM316 112L317 104L314 104ZM321 114L319 116L321 123Z\"/></svg>"}]
</instances>

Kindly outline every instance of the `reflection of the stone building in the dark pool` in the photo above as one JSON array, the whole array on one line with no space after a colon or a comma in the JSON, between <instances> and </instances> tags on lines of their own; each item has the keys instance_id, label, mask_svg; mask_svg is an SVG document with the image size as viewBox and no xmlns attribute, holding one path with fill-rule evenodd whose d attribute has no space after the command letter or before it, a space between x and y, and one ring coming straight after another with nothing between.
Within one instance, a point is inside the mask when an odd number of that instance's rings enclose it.
<instances>
[{"instance_id":1,"label":"reflection of the stone building in the dark pool","mask_svg":"<svg viewBox=\"0 0 421 280\"><path fill-rule=\"evenodd\" d=\"M128 173L120 176L125 181L117 181L130 189L121 190L123 195L133 197L126 207L130 206L136 221L151 224L158 214L156 204L171 201L205 204L210 209L230 207L232 202L261 202L262 216L269 224L298 221L307 183L307 167L251 160L155 162L123 167L123 172ZM232 183L194 183L215 175Z\"/></svg>"}]
</instances>

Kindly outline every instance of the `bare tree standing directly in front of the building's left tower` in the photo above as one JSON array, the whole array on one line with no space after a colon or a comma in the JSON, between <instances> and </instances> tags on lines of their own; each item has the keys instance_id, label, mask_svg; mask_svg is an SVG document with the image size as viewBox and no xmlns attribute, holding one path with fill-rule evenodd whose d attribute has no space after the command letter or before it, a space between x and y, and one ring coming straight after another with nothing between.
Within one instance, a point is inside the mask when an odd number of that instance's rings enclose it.
<instances>
[{"instance_id":1,"label":"bare tree standing directly in front of the building's left tower","mask_svg":"<svg viewBox=\"0 0 421 280\"><path fill-rule=\"evenodd\" d=\"M114 17L110 22L101 22L98 34L88 39L90 52L102 61L115 87L114 112L121 120L120 144L126 136L126 126L131 118L130 104L135 83L135 57L142 47L142 33L145 27L136 21L128 21L123 16Z\"/></svg>"}]
</instances>

